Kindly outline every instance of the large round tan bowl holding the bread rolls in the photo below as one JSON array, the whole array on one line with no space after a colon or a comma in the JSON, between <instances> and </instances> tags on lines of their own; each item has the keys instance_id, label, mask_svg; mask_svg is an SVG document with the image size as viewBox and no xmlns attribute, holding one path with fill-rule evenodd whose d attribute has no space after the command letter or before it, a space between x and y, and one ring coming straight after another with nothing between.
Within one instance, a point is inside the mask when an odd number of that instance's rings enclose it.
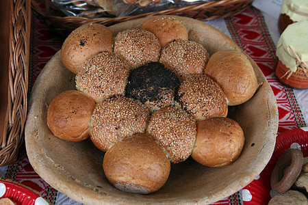
<instances>
[{"instance_id":1,"label":"large round tan bowl holding the bread rolls","mask_svg":"<svg viewBox=\"0 0 308 205\"><path fill-rule=\"evenodd\" d=\"M190 40L205 46L210 55L223 49L241 49L218 29L199 20L175 16L189 30ZM116 33L138 28L146 18L113 25ZM250 58L249 58L250 59ZM278 128L277 102L268 81L251 60L257 80L257 93L242 105L229 107L246 137L240 158L220 168L205 167L191 158L172 165L168 181L155 193L138 195L114 188L103 172L104 153L90 139L68 142L53 136L47 126L48 105L57 94L75 89L75 75L61 62L60 51L48 62L34 84L29 101L25 142L29 161L52 187L84 204L209 204L239 191L264 169L275 145Z\"/></svg>"}]
</instances>

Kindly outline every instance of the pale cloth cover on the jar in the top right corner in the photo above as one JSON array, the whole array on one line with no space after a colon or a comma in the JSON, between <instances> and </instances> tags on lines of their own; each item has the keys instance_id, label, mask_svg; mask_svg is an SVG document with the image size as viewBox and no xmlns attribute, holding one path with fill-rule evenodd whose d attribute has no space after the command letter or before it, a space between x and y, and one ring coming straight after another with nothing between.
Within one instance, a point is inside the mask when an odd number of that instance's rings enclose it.
<instances>
[{"instance_id":1,"label":"pale cloth cover on the jar in the top right corner","mask_svg":"<svg viewBox=\"0 0 308 205\"><path fill-rule=\"evenodd\" d=\"M290 16L293 21L308 20L308 1L283 0L280 13Z\"/></svg>"}]
</instances>

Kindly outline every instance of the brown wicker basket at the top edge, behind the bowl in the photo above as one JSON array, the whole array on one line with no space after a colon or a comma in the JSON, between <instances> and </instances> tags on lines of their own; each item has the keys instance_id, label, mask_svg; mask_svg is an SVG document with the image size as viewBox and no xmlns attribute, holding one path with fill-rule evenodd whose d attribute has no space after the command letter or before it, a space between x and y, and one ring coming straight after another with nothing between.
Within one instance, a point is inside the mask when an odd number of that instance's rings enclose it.
<instances>
[{"instance_id":1,"label":"brown wicker basket at the top edge, behind the bowl","mask_svg":"<svg viewBox=\"0 0 308 205\"><path fill-rule=\"evenodd\" d=\"M227 18L243 12L251 6L253 0L216 0L203 3L201 5L190 5L185 8L172 8L170 10L163 10L160 12L150 12L146 14L139 14L136 16L120 16L120 17L102 17L102 18L86 18L78 16L57 16L54 14L45 14L40 10L36 1L32 0L32 8L36 14L41 16L49 27L54 31L65 35L73 31L73 29L85 23L101 23L105 26L114 25L126 20L142 18L144 16L155 15L177 15L187 16L200 20L214 20L219 18ZM47 6L50 4L47 4ZM49 8L47 8L49 10Z\"/></svg>"}]
</instances>

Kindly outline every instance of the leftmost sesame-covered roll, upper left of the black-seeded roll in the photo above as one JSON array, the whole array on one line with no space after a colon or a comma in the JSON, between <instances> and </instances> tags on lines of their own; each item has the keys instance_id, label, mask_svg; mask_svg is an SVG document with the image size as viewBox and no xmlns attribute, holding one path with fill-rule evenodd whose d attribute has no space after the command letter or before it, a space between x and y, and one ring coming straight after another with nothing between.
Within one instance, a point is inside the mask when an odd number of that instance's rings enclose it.
<instances>
[{"instance_id":1,"label":"leftmost sesame-covered roll, upper left of the black-seeded roll","mask_svg":"<svg viewBox=\"0 0 308 205\"><path fill-rule=\"evenodd\" d=\"M96 102L115 95L124 95L129 68L114 53L103 52L89 59L77 73L76 88Z\"/></svg>"}]
</instances>

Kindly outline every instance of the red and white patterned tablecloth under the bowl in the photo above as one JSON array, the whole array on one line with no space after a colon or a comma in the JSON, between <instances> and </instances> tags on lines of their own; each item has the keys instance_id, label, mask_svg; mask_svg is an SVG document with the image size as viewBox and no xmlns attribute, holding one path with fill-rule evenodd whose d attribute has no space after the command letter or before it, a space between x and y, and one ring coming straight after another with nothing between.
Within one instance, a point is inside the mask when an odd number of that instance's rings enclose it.
<instances>
[{"instance_id":1,"label":"red and white patterned tablecloth under the bowl","mask_svg":"<svg viewBox=\"0 0 308 205\"><path fill-rule=\"evenodd\" d=\"M276 45L280 34L277 19L249 8L242 14L223 20L206 21L232 38L258 64L270 83L277 99L279 109L278 133L308 123L308 90L294 90L282 85L274 74ZM32 19L31 62L29 70L29 89L31 90L38 74L51 57L60 50L62 39L57 38L34 16ZM44 182L31 167L25 147L21 147L18 163L0 167L0 176L34 189L51 204L80 204L66 197ZM242 191L215 204L248 204Z\"/></svg>"}]
</instances>

